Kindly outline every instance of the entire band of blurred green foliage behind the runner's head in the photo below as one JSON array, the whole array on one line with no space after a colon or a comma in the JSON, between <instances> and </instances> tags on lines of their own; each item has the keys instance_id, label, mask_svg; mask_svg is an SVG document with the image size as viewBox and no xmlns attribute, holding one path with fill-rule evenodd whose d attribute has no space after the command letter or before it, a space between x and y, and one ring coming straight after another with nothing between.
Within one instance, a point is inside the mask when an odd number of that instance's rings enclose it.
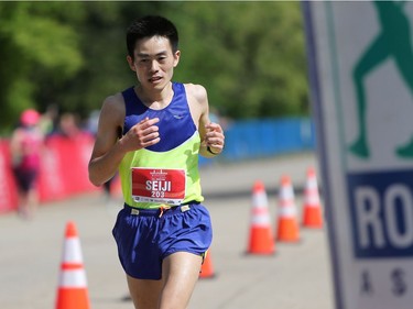
<instances>
[{"instance_id":1,"label":"entire band of blurred green foliage behind the runner's head","mask_svg":"<svg viewBox=\"0 0 413 309\"><path fill-rule=\"evenodd\" d=\"M28 107L87 117L135 81L124 32L144 14L180 31L175 80L238 118L308 112L300 2L0 2L0 132Z\"/></svg>"}]
</instances>

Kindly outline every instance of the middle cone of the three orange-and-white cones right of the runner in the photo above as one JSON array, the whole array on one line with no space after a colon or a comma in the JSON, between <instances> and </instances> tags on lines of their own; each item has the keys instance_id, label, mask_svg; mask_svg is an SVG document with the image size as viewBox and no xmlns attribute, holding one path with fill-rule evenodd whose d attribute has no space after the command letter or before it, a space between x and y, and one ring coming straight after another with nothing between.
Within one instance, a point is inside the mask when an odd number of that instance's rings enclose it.
<instances>
[{"instance_id":1,"label":"middle cone of the three orange-and-white cones right of the runner","mask_svg":"<svg viewBox=\"0 0 413 309\"><path fill-rule=\"evenodd\" d=\"M291 178L285 175L281 178L279 194L276 240L281 242L297 242L300 240L294 189Z\"/></svg>"}]
</instances>

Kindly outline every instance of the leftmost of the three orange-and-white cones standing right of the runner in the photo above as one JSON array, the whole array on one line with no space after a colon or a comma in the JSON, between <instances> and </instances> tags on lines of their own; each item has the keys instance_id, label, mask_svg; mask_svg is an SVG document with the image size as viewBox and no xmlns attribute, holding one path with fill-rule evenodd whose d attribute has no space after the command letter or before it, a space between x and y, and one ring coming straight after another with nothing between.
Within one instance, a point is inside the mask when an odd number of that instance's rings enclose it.
<instances>
[{"instance_id":1,"label":"leftmost of the three orange-and-white cones standing right of the runner","mask_svg":"<svg viewBox=\"0 0 413 309\"><path fill-rule=\"evenodd\" d=\"M252 209L249 247L250 254L273 254L274 238L271 231L268 197L264 185L256 181L252 188Z\"/></svg>"}]
</instances>

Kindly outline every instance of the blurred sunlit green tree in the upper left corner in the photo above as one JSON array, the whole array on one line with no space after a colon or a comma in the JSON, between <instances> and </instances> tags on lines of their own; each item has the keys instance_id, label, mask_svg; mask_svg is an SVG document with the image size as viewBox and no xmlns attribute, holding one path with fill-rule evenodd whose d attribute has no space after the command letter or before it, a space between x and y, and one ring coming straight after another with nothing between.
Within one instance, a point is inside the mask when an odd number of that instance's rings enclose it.
<instances>
[{"instance_id":1,"label":"blurred sunlit green tree in the upper left corner","mask_svg":"<svg viewBox=\"0 0 413 309\"><path fill-rule=\"evenodd\" d=\"M80 3L0 2L1 129L15 123L20 111L39 108L37 80L51 74L65 79L83 65L78 35L68 21L83 18Z\"/></svg>"}]
</instances>

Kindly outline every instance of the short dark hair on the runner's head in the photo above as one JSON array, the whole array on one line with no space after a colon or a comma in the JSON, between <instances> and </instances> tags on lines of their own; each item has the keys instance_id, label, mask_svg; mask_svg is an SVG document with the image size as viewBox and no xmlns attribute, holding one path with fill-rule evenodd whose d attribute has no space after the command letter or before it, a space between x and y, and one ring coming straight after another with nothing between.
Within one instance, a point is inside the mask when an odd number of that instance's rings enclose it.
<instances>
[{"instance_id":1,"label":"short dark hair on the runner's head","mask_svg":"<svg viewBox=\"0 0 413 309\"><path fill-rule=\"evenodd\" d=\"M172 51L175 53L178 45L178 35L175 25L165 18L148 15L135 20L127 31L127 47L129 56L133 58L137 42L144 37L164 36L170 40Z\"/></svg>"}]
</instances>

